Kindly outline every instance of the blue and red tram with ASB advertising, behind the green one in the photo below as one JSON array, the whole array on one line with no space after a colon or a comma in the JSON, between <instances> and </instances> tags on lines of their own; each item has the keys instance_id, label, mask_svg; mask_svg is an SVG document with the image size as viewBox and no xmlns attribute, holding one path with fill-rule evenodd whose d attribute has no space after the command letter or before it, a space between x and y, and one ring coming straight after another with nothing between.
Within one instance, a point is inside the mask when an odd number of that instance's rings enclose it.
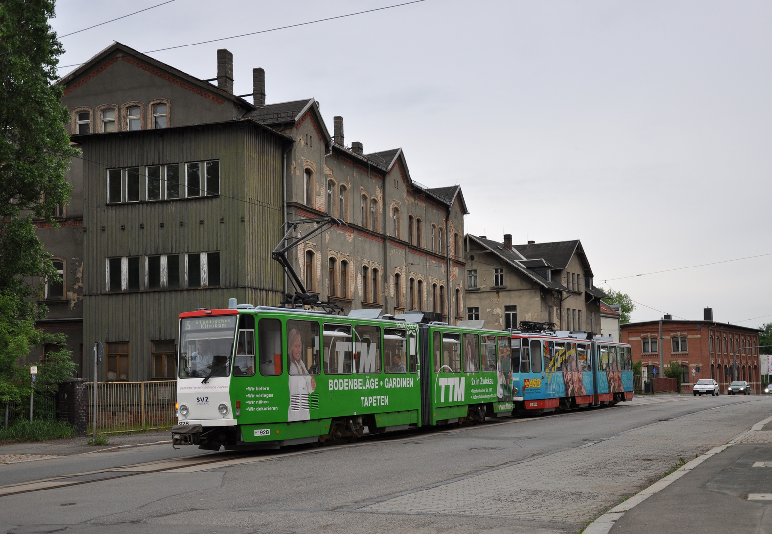
<instances>
[{"instance_id":1,"label":"blue and red tram with ASB advertising, behind the green one","mask_svg":"<svg viewBox=\"0 0 772 534\"><path fill-rule=\"evenodd\" d=\"M613 406L632 399L632 355L610 337L585 332L512 333L513 400L518 411Z\"/></svg>"}]
</instances>

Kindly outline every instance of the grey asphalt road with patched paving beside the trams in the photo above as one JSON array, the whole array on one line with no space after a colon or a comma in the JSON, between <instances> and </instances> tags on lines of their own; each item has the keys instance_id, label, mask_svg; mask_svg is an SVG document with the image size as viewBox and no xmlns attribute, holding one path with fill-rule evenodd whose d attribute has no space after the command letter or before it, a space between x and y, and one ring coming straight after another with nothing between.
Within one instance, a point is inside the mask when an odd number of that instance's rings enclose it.
<instances>
[{"instance_id":1,"label":"grey asphalt road with patched paving beside the trams","mask_svg":"<svg viewBox=\"0 0 772 534\"><path fill-rule=\"evenodd\" d=\"M0 465L0 485L34 490L0 496L0 532L577 532L770 412L772 397L646 396L317 449Z\"/></svg>"}]
</instances>

